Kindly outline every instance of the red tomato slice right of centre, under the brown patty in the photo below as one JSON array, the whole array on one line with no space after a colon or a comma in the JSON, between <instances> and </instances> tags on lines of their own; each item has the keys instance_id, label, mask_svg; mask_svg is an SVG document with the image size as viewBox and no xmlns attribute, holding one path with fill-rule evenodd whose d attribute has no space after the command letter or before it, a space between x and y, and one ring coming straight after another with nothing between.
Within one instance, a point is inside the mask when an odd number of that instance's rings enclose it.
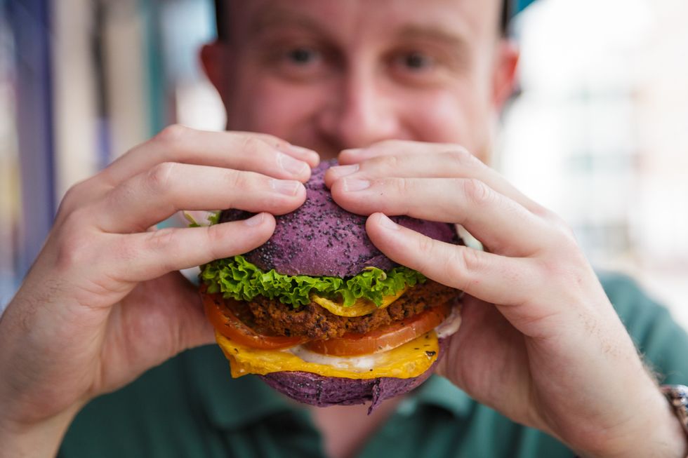
<instances>
[{"instance_id":1,"label":"red tomato slice right of centre, under the brown patty","mask_svg":"<svg viewBox=\"0 0 688 458\"><path fill-rule=\"evenodd\" d=\"M334 339L311 340L303 346L310 351L332 356L356 356L385 351L436 328L450 312L451 304L446 303L366 334L348 332Z\"/></svg>"}]
</instances>

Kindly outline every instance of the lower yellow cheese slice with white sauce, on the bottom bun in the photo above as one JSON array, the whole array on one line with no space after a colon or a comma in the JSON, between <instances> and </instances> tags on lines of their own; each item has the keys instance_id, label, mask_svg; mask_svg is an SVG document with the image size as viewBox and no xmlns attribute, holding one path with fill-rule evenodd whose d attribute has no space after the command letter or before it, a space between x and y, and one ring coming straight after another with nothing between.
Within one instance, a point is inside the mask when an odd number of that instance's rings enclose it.
<instances>
[{"instance_id":1,"label":"lower yellow cheese slice with white sauce, on the bottom bun","mask_svg":"<svg viewBox=\"0 0 688 458\"><path fill-rule=\"evenodd\" d=\"M215 333L215 337L230 360L234 378L247 374L265 375L270 372L298 370L326 377L349 379L408 379L428 370L439 352L434 330L389 351L352 357L319 355L301 346L285 350L253 349L239 345L219 332Z\"/></svg>"}]
</instances>

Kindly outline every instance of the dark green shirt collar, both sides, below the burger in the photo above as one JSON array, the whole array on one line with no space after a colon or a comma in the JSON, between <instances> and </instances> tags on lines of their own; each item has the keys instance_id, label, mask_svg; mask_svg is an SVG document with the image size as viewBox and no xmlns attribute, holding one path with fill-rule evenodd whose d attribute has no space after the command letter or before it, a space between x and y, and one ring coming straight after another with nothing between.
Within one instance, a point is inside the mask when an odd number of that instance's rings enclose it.
<instances>
[{"instance_id":1,"label":"dark green shirt collar, both sides, below the burger","mask_svg":"<svg viewBox=\"0 0 688 458\"><path fill-rule=\"evenodd\" d=\"M281 412L303 410L274 391L255 375L230 376L229 362L217 345L204 346L182 355L194 400L219 429L235 429ZM467 417L473 401L449 380L432 375L399 405L402 415L421 406L442 408L454 417Z\"/></svg>"}]
</instances>

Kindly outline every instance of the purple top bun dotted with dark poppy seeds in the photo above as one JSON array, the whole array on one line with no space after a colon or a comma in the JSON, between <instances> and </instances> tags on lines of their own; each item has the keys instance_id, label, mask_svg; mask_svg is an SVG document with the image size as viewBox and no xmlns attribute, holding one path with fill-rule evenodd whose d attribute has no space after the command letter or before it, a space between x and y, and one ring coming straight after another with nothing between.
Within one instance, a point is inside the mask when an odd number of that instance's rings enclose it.
<instances>
[{"instance_id":1,"label":"purple top bun dotted with dark poppy seeds","mask_svg":"<svg viewBox=\"0 0 688 458\"><path fill-rule=\"evenodd\" d=\"M292 213L277 216L277 227L267 243L244 255L260 269L285 275L338 276L359 274L364 267L383 270L397 266L375 248L366 234L366 219L344 210L332 200L325 186L326 161L313 169L306 183L306 201ZM251 213L225 210L220 222L243 220ZM392 217L398 224L440 241L456 243L451 224Z\"/></svg>"}]
</instances>

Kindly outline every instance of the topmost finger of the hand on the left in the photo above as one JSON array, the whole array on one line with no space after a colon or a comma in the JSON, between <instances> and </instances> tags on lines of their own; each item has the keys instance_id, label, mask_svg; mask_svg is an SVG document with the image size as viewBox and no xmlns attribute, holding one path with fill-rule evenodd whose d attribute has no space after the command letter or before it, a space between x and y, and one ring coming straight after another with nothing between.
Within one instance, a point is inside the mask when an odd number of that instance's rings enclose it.
<instances>
[{"instance_id":1,"label":"topmost finger of the hand on the left","mask_svg":"<svg viewBox=\"0 0 688 458\"><path fill-rule=\"evenodd\" d=\"M105 168L102 177L116 185L162 162L251 170L305 182L319 156L272 135L209 132L176 125L128 151Z\"/></svg>"}]
</instances>

